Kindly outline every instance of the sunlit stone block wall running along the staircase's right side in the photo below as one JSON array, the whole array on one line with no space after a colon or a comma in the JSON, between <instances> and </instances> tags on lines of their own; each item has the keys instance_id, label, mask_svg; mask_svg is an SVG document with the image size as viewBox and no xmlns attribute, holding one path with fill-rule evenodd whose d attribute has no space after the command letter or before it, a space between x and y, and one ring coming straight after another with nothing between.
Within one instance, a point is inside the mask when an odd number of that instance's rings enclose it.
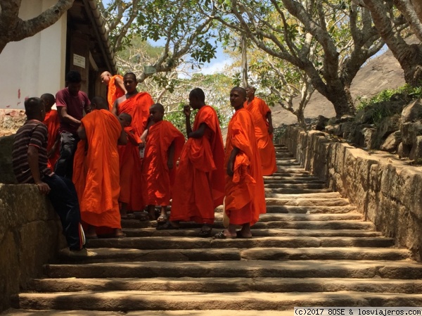
<instances>
[{"instance_id":1,"label":"sunlit stone block wall running along the staircase's right side","mask_svg":"<svg viewBox=\"0 0 422 316\"><path fill-rule=\"evenodd\" d=\"M282 144L306 170L349 198L398 247L422 261L422 167L381 151L330 141L322 132L288 127Z\"/></svg>"}]
</instances>

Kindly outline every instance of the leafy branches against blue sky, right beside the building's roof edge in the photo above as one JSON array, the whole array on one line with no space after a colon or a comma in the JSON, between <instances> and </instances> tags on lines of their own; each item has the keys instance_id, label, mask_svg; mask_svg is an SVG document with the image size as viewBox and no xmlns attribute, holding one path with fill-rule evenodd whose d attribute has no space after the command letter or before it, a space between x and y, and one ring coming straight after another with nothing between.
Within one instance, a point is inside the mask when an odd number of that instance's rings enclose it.
<instances>
[{"instance_id":1,"label":"leafy branches against blue sky, right beside the building's roof edge","mask_svg":"<svg viewBox=\"0 0 422 316\"><path fill-rule=\"evenodd\" d=\"M150 39L163 43L160 54L151 59L148 67L138 72L139 82L155 73L171 72L181 63L198 65L215 57L217 35L211 30L213 19L196 13L197 2L108 1L103 8L103 17L115 51L130 46L134 37L142 42Z\"/></svg>"}]
</instances>

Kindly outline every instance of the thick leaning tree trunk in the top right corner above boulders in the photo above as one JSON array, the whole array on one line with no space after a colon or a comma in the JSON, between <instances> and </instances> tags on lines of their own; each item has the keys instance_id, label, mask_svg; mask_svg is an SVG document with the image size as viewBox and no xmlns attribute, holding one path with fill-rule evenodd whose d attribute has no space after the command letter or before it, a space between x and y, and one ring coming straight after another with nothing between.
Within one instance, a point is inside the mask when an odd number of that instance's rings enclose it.
<instances>
[{"instance_id":1,"label":"thick leaning tree trunk in the top right corner above boulders","mask_svg":"<svg viewBox=\"0 0 422 316\"><path fill-rule=\"evenodd\" d=\"M422 41L422 4L421 1L409 0L355 0L357 4L371 11L373 23L404 70L404 80L411 86L422 83L422 46L407 44L401 29L397 29L393 20L395 8L409 23L411 30ZM405 33L407 34L407 33Z\"/></svg>"}]
</instances>

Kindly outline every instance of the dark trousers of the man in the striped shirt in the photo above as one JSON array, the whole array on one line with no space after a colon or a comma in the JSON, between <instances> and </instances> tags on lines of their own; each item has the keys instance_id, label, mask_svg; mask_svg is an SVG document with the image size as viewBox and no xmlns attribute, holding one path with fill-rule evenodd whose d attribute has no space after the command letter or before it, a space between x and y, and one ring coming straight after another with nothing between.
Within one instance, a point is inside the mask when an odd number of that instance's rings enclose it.
<instances>
[{"instance_id":1,"label":"dark trousers of the man in the striped shirt","mask_svg":"<svg viewBox=\"0 0 422 316\"><path fill-rule=\"evenodd\" d=\"M63 226L63 233L68 241L70 250L79 250L83 245L82 227L79 224L81 214L75 186L67 178L52 175L42 179L49 184L49 198L54 210L58 213Z\"/></svg>"}]
</instances>

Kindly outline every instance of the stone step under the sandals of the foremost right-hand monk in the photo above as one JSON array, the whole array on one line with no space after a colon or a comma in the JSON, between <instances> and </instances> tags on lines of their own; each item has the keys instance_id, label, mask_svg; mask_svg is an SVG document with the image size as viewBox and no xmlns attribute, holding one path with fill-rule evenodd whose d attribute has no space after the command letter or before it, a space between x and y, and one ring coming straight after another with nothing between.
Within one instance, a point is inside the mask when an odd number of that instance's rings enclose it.
<instances>
[{"instance_id":1,"label":"stone step under the sandals of the foremost right-hand monk","mask_svg":"<svg viewBox=\"0 0 422 316\"><path fill-rule=\"evenodd\" d=\"M124 234L128 237L148 237L148 236L184 236L197 237L200 228L193 229L176 229L176 230L157 230L155 228L126 228L123 229ZM216 230L215 232L219 232ZM312 237L328 237L328 236L349 236L349 237L379 237L381 232L357 230L357 229L255 229L252 228L252 234L255 237L283 237L283 236L312 236Z\"/></svg>"}]
</instances>

